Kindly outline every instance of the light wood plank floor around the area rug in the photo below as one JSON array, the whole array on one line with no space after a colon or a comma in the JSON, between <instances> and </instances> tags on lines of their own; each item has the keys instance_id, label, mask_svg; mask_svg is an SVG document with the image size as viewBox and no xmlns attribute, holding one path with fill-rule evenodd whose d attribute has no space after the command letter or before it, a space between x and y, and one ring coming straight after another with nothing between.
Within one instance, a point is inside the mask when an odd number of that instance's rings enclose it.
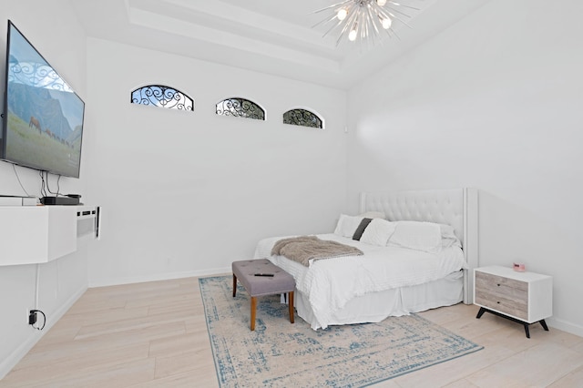
<instances>
[{"instance_id":1,"label":"light wood plank floor around the area rug","mask_svg":"<svg viewBox=\"0 0 583 388\"><path fill-rule=\"evenodd\" d=\"M583 387L583 338L457 304L421 313L484 350L378 387ZM297 320L296 322L302 322ZM217 387L196 278L88 290L0 387Z\"/></svg>"}]
</instances>

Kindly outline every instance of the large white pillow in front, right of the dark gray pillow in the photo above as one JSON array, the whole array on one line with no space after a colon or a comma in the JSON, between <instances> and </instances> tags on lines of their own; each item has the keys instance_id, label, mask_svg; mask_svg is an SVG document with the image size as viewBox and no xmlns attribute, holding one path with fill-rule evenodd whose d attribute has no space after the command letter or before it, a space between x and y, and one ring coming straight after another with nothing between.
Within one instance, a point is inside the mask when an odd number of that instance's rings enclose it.
<instances>
[{"instance_id":1,"label":"large white pillow in front, right of the dark gray pillow","mask_svg":"<svg viewBox=\"0 0 583 388\"><path fill-rule=\"evenodd\" d=\"M398 221L387 245L424 250L438 253L441 251L441 229L432 222Z\"/></svg>"}]
</instances>

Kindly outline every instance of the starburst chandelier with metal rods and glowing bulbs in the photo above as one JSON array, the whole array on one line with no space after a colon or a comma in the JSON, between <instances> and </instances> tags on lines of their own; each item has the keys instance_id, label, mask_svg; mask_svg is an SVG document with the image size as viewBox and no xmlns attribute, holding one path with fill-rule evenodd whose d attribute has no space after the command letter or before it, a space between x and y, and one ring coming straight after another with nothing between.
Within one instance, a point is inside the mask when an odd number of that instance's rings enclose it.
<instances>
[{"instance_id":1,"label":"starburst chandelier with metal rods and glowing bulbs","mask_svg":"<svg viewBox=\"0 0 583 388\"><path fill-rule=\"evenodd\" d=\"M351 42L380 38L384 33L398 38L393 29L393 22L396 20L411 28L405 20L411 18L405 13L407 10L419 11L419 8L391 0L344 0L315 11L314 14L328 11L330 15L313 27L332 24L323 36L334 30L338 31L336 46L344 36L348 36Z\"/></svg>"}]
</instances>

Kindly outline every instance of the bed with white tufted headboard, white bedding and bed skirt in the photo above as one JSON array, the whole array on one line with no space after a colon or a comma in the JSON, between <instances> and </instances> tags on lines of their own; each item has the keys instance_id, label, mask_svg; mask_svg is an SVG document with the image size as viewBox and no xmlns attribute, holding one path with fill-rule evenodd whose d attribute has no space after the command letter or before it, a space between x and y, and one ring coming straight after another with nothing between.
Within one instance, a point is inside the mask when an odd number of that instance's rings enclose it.
<instances>
[{"instance_id":1,"label":"bed with white tufted headboard, white bedding and bed skirt","mask_svg":"<svg viewBox=\"0 0 583 388\"><path fill-rule=\"evenodd\" d=\"M469 304L471 271L478 265L477 200L476 189L362 193L359 215L341 215L332 233L316 236L362 255L310 260L306 266L271 255L278 241L293 237L281 236L260 240L254 257L292 274L298 316L313 330ZM353 240L363 219L371 221L362 238Z\"/></svg>"}]
</instances>

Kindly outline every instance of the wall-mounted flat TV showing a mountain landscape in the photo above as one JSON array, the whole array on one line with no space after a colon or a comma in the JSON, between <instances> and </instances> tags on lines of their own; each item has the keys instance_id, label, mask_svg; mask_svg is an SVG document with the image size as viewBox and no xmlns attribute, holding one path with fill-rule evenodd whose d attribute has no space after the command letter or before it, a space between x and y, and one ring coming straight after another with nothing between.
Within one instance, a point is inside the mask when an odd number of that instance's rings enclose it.
<instances>
[{"instance_id":1,"label":"wall-mounted flat TV showing a mountain landscape","mask_svg":"<svg viewBox=\"0 0 583 388\"><path fill-rule=\"evenodd\" d=\"M85 103L8 21L1 157L79 177Z\"/></svg>"}]
</instances>

